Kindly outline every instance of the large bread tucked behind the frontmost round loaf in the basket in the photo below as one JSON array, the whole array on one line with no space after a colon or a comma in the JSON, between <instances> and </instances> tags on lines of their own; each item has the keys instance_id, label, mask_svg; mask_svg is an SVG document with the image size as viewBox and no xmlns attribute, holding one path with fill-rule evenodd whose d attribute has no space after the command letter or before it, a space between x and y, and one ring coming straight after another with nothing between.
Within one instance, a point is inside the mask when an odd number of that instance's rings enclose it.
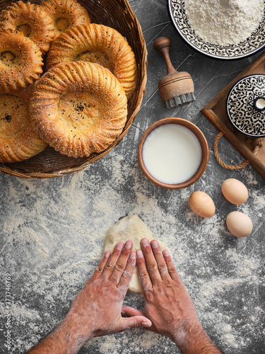
<instances>
[{"instance_id":1,"label":"large bread tucked behind the frontmost round loaf in the basket","mask_svg":"<svg viewBox=\"0 0 265 354\"><path fill-rule=\"evenodd\" d=\"M110 69L122 84L127 98L131 98L137 82L136 59L129 43L117 30L96 23L66 30L52 42L47 69L77 60L95 62Z\"/></svg>"}]
</instances>

